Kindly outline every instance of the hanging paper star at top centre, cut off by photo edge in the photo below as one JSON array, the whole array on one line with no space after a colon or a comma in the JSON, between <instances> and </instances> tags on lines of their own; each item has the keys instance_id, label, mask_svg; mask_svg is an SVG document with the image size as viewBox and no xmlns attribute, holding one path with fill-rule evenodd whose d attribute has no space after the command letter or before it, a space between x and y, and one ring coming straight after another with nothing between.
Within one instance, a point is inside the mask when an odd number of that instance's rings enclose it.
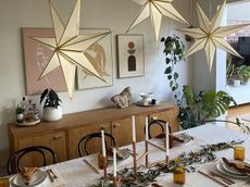
<instances>
[{"instance_id":1,"label":"hanging paper star at top centre, cut off by photo edge","mask_svg":"<svg viewBox=\"0 0 250 187\"><path fill-rule=\"evenodd\" d=\"M130 1L142 5L142 8L126 33L128 33L130 29L133 29L139 23L141 23L142 21L145 21L150 16L154 28L155 40L158 43L160 29L161 29L162 15L165 15L170 18L176 20L189 26L189 23L171 4L173 0L130 0Z\"/></svg>"}]
</instances>

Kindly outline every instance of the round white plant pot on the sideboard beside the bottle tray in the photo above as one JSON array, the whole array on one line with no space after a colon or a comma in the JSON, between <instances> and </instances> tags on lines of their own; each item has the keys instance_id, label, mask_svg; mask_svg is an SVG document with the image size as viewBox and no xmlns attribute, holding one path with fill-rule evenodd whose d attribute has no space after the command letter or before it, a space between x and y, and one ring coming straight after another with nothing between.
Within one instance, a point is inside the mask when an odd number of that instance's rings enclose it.
<instances>
[{"instance_id":1,"label":"round white plant pot on the sideboard beside the bottle tray","mask_svg":"<svg viewBox=\"0 0 250 187\"><path fill-rule=\"evenodd\" d=\"M53 107L43 108L42 120L48 122L59 121L62 119L62 108L59 105L58 109Z\"/></svg>"}]
</instances>

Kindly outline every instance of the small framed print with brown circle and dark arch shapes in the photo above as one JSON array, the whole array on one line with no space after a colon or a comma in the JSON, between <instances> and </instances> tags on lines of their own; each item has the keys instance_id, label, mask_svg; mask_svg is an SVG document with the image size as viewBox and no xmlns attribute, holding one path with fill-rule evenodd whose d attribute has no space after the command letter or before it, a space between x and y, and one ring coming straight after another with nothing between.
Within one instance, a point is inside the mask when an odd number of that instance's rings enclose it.
<instances>
[{"instance_id":1,"label":"small framed print with brown circle and dark arch shapes","mask_svg":"<svg viewBox=\"0 0 250 187\"><path fill-rule=\"evenodd\" d=\"M118 77L145 75L145 51L142 35L117 35Z\"/></svg>"}]
</instances>

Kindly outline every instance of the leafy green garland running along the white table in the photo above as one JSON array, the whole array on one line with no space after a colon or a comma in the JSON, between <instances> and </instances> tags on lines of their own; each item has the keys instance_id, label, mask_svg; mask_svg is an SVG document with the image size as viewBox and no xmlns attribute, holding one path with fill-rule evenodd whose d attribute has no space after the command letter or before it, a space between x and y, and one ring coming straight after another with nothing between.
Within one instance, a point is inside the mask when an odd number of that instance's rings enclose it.
<instances>
[{"instance_id":1,"label":"leafy green garland running along the white table","mask_svg":"<svg viewBox=\"0 0 250 187\"><path fill-rule=\"evenodd\" d=\"M227 150L229 148L233 148L235 145L241 145L243 140L233 140L229 142L218 142L215 145L205 145L202 146L202 148L199 151L190 151L188 153L184 152L178 158L182 160L182 163L185 167L185 170L190 172L196 172L196 167L191 166L192 164L203 164L208 162L213 162L216 160L215 152ZM157 162L147 172L138 171L137 172L137 180L123 180L122 187L142 187L148 186L150 183L155 183L155 178L161 175L161 173L173 173L173 169L175 167L175 161L170 161L170 166L166 167L165 161L163 162ZM141 167L142 169L142 167ZM110 178L112 178L112 173L109 173ZM123 169L117 172L117 176L120 178L133 178L134 177L134 171L132 169ZM89 187L113 187L112 179L107 180L103 177L100 178L100 182L98 184L90 185ZM152 184L152 186L159 187L158 184Z\"/></svg>"}]
</instances>

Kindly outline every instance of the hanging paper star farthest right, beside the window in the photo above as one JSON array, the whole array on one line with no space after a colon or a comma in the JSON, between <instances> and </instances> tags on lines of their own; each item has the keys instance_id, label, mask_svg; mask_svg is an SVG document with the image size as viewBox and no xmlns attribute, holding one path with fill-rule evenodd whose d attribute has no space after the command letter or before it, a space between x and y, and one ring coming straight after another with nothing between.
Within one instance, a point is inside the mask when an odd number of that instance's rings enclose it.
<instances>
[{"instance_id":1,"label":"hanging paper star farthest right, beside the window","mask_svg":"<svg viewBox=\"0 0 250 187\"><path fill-rule=\"evenodd\" d=\"M240 24L240 25L230 25L230 26L220 26L225 4L226 4L226 0L220 7L214 17L210 21L205 15L205 13L203 12L203 10L197 3L200 27L182 28L182 29L177 28L177 30L180 30L184 34L196 39L196 41L192 43L189 50L184 54L184 57L187 58L188 55L191 55L195 52L204 49L210 71L212 70L213 59L214 59L214 53L216 48L229 52L238 58L242 58L229 43L227 43L225 37L250 25L250 24Z\"/></svg>"}]
</instances>

